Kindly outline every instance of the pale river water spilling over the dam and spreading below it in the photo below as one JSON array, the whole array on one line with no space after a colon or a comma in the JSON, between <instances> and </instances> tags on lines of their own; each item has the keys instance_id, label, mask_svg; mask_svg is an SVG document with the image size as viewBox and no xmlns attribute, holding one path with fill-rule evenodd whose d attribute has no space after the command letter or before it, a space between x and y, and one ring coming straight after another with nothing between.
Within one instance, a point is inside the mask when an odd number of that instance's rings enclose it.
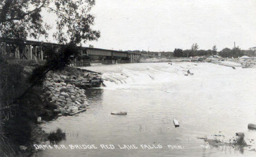
<instances>
[{"instance_id":1,"label":"pale river water spilling over the dam and spreading below it","mask_svg":"<svg viewBox=\"0 0 256 157\"><path fill-rule=\"evenodd\" d=\"M43 124L45 131L59 127L66 132L66 141L59 145L67 149L46 149L36 156L256 155L249 151L256 148L256 131L247 129L248 123L256 123L256 69L186 62L85 69L103 73L106 87L87 90L90 106L86 112ZM187 70L194 75L185 76ZM112 111L127 111L127 115L111 115ZM173 118L179 121L178 128ZM235 132L245 132L252 146L213 147L197 138L225 142ZM97 149L71 149L74 144L95 144ZM101 144L112 144L105 148L114 149L103 149ZM121 149L124 144L134 144L134 149Z\"/></svg>"}]
</instances>

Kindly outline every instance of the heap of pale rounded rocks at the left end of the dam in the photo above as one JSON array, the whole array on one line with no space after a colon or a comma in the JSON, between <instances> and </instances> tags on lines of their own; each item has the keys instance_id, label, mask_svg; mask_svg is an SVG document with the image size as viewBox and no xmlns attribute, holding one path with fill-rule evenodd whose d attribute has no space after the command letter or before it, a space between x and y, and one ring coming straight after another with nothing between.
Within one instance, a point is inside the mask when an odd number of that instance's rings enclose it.
<instances>
[{"instance_id":1,"label":"heap of pale rounded rocks at the left end of the dam","mask_svg":"<svg viewBox=\"0 0 256 157\"><path fill-rule=\"evenodd\" d=\"M46 76L43 88L46 93L42 99L53 102L58 116L72 115L79 110L85 111L89 106L85 95L85 89L100 87L101 75L83 69L67 67L62 71L50 72Z\"/></svg>"}]
</instances>

